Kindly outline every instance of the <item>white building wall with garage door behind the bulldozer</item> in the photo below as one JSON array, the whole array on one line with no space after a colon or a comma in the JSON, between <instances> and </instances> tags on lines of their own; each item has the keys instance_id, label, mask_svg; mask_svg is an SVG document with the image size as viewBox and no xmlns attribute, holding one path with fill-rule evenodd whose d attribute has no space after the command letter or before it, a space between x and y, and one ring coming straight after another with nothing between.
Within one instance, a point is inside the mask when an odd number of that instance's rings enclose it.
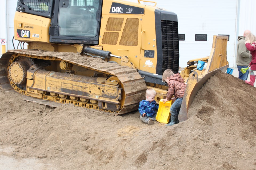
<instances>
[{"instance_id":1,"label":"white building wall with garage door behind the bulldozer","mask_svg":"<svg viewBox=\"0 0 256 170\"><path fill-rule=\"evenodd\" d=\"M2 14L0 38L7 39L6 50L8 50L13 49L13 19L17 0L2 1L6 2L6 5L2 3L0 6ZM136 0L129 1L138 2ZM158 7L175 12L178 16L179 33L185 34L185 41L179 41L181 67L187 66L187 61L190 59L209 56L213 35L218 34L230 35L227 45L227 60L230 67L234 67L237 36L243 35L245 29L250 29L256 34L255 0L156 0L155 2ZM141 1L141 3L143 2ZM147 2L144 4L154 5L154 3ZM236 18L237 12L239 16ZM195 34L207 34L207 41L195 41ZM17 48L18 41L14 40L14 45Z\"/></svg>"}]
</instances>

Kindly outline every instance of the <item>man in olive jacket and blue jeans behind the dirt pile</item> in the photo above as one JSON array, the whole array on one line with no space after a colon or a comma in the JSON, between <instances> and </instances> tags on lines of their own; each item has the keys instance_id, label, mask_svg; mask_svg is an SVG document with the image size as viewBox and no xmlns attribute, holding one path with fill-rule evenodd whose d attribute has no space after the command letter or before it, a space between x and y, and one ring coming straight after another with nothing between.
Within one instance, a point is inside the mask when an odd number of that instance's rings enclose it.
<instances>
[{"instance_id":1,"label":"man in olive jacket and blue jeans behind the dirt pile","mask_svg":"<svg viewBox=\"0 0 256 170\"><path fill-rule=\"evenodd\" d=\"M246 73L243 74L240 70L242 68L247 68L249 63L251 62L251 54L247 50L245 46L245 37L250 33L250 30L245 30L243 36L238 36L238 43L237 43L237 57L236 57L236 65L239 71L239 79L247 80L249 71L246 70Z\"/></svg>"}]
</instances>

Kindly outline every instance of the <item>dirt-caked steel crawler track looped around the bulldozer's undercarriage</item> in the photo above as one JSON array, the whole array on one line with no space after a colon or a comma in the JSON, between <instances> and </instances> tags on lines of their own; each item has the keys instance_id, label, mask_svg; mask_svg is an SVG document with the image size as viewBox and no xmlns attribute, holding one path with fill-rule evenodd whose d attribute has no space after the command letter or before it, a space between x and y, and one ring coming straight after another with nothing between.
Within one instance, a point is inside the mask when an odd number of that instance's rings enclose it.
<instances>
[{"instance_id":1,"label":"dirt-caked steel crawler track looped around the bulldozer's undercarriage","mask_svg":"<svg viewBox=\"0 0 256 170\"><path fill-rule=\"evenodd\" d=\"M81 56L80 54L72 52L50 52L31 49L9 50L0 58L0 86L4 91L14 89L16 92L29 96L26 93L26 90L23 90L13 82L10 82L10 78L8 77L8 69L11 63L13 63L19 56L41 60L66 61L86 69L116 76L122 83L122 90L125 92L125 99L122 99L124 100L123 105L119 111L116 111L118 114L133 111L134 108L137 109L139 105L138 102L145 97L147 87L144 79L139 75L136 69L132 69L128 66L121 66L118 63L109 63L99 58ZM63 103L63 100L58 97L50 97L47 100ZM94 105L83 105L79 101L65 100L65 103L102 110Z\"/></svg>"}]
</instances>

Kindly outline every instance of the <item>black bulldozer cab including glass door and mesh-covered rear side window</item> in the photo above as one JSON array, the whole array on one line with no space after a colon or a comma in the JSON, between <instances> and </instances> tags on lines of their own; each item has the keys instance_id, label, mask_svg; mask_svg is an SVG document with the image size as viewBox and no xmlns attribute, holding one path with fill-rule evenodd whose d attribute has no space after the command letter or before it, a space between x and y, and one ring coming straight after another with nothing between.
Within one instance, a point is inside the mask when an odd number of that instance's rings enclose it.
<instances>
[{"instance_id":1,"label":"black bulldozer cab including glass door and mesh-covered rear side window","mask_svg":"<svg viewBox=\"0 0 256 170\"><path fill-rule=\"evenodd\" d=\"M17 11L51 19L51 43L98 44L102 0L21 0Z\"/></svg>"}]
</instances>

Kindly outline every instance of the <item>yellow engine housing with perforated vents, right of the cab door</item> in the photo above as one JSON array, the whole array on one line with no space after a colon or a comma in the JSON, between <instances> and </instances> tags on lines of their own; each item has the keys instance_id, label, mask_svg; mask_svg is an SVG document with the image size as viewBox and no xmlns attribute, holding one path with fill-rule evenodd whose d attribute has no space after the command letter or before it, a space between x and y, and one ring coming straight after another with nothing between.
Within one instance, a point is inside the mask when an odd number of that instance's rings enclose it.
<instances>
[{"instance_id":1,"label":"yellow engine housing with perforated vents, right of the cab door","mask_svg":"<svg viewBox=\"0 0 256 170\"><path fill-rule=\"evenodd\" d=\"M156 73L157 57L144 57L145 49L157 53L155 21L153 19L156 7L125 2L127 5L144 8L147 15L116 15L109 14L111 2L123 3L123 1L107 0L103 2L99 45L103 46L103 50L111 51L117 56L129 56L129 61L140 70ZM142 22L149 24L142 24ZM120 63L116 58L111 58L111 60Z\"/></svg>"}]
</instances>

